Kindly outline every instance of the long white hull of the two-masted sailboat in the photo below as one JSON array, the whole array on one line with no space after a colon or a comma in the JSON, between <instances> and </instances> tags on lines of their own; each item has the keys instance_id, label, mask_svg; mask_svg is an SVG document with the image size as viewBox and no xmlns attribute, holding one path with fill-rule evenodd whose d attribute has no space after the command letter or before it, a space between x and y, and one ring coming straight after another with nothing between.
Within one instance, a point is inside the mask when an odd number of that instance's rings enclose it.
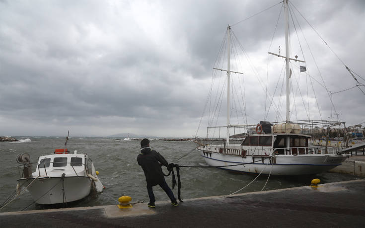
<instances>
[{"instance_id":1,"label":"long white hull of the two-masted sailboat","mask_svg":"<svg viewBox=\"0 0 365 228\"><path fill-rule=\"evenodd\" d=\"M266 155L246 157L209 151L200 151L200 154L210 166L225 166L219 168L244 173L271 175L307 175L321 173L341 165L347 158L342 154Z\"/></svg>"}]
</instances>

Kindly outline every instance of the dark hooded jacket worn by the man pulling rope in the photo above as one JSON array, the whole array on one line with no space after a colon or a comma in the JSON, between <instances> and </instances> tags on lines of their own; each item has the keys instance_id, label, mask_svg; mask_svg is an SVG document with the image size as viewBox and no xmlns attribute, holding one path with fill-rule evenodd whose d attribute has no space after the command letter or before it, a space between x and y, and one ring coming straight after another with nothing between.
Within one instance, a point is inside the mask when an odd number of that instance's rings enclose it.
<instances>
[{"instance_id":1,"label":"dark hooded jacket worn by the man pulling rope","mask_svg":"<svg viewBox=\"0 0 365 228\"><path fill-rule=\"evenodd\" d=\"M141 148L141 153L137 156L138 164L145 172L147 185L155 186L162 183L164 176L161 166L167 166L166 159L150 147Z\"/></svg>"}]
</instances>

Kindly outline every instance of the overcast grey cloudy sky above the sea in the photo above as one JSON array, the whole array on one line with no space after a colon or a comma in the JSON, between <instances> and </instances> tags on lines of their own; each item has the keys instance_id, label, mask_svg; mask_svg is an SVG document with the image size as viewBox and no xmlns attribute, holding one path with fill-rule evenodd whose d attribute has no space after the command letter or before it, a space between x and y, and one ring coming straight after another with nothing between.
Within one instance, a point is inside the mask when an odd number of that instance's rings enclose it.
<instances>
[{"instance_id":1,"label":"overcast grey cloudy sky above the sea","mask_svg":"<svg viewBox=\"0 0 365 228\"><path fill-rule=\"evenodd\" d=\"M191 137L199 125L227 25L277 3L0 0L0 135L64 136L70 130L73 136ZM365 78L365 1L292 3L336 55ZM278 4L232 27L263 79L280 10ZM284 54L285 41L279 34L284 22L279 23L271 49L278 52L281 46ZM306 23L301 26L312 31ZM356 85L315 33L307 39L322 45L312 52L319 53L316 63L329 91ZM314 68L308 71L314 74ZM245 96L255 101L247 101L247 114L256 117L252 119L256 123L265 116L265 98L258 95L264 91L254 76L243 71L253 78L245 80ZM276 83L269 80L271 91ZM328 119L327 93L322 88L316 96L322 118ZM335 93L333 101L347 126L365 122L365 95L360 89Z\"/></svg>"}]
</instances>

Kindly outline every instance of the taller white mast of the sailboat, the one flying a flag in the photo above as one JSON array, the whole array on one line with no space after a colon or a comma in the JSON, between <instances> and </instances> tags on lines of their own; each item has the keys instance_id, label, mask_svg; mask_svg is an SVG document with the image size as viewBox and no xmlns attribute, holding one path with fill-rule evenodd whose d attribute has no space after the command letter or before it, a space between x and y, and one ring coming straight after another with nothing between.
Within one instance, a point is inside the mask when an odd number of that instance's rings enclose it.
<instances>
[{"instance_id":1,"label":"taller white mast of the sailboat, the one flying a flag","mask_svg":"<svg viewBox=\"0 0 365 228\"><path fill-rule=\"evenodd\" d=\"M289 18L288 0L284 0L285 9L285 62L287 73L287 123L290 121L290 69L289 69Z\"/></svg>"}]
</instances>

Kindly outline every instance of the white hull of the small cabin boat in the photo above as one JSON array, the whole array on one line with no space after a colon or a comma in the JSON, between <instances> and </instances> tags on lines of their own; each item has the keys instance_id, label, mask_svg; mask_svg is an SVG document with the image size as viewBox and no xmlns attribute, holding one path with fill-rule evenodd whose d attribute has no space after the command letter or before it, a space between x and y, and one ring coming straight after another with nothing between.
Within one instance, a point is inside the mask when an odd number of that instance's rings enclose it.
<instances>
[{"instance_id":1,"label":"white hull of the small cabin boat","mask_svg":"<svg viewBox=\"0 0 365 228\"><path fill-rule=\"evenodd\" d=\"M20 185L27 187L37 204L69 203L85 198L90 194L92 181L86 176L37 177L18 179ZM64 190L63 190L64 189ZM65 195L64 195L65 192Z\"/></svg>"}]
</instances>

